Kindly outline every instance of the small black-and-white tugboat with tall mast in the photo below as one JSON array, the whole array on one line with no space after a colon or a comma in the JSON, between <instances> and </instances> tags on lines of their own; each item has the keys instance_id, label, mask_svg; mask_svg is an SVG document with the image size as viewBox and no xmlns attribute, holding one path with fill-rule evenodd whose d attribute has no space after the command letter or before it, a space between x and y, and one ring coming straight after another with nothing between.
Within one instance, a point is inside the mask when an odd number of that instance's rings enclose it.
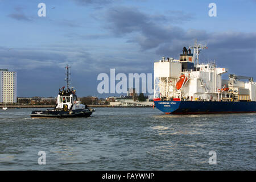
<instances>
[{"instance_id":1,"label":"small black-and-white tugboat with tall mast","mask_svg":"<svg viewBox=\"0 0 256 182\"><path fill-rule=\"evenodd\" d=\"M57 104L53 110L34 110L30 114L31 118L69 118L69 117L89 117L95 109L81 104L77 99L76 90L69 88L70 67L67 65L67 88L59 89Z\"/></svg>"}]
</instances>

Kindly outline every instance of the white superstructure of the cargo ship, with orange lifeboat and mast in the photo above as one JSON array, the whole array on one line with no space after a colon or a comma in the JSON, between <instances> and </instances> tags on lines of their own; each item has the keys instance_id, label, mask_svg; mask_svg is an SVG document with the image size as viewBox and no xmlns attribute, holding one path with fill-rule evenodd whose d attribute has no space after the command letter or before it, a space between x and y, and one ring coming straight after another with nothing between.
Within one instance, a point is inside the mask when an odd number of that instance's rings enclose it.
<instances>
[{"instance_id":1,"label":"white superstructure of the cargo ship, with orange lifeboat and mast","mask_svg":"<svg viewBox=\"0 0 256 182\"><path fill-rule=\"evenodd\" d=\"M199 53L206 45L183 48L179 60L162 57L154 63L154 98L183 101L256 101L256 84L253 78L229 75L214 61L199 63ZM194 49L194 53L191 53ZM243 82L241 80L247 80Z\"/></svg>"}]
</instances>

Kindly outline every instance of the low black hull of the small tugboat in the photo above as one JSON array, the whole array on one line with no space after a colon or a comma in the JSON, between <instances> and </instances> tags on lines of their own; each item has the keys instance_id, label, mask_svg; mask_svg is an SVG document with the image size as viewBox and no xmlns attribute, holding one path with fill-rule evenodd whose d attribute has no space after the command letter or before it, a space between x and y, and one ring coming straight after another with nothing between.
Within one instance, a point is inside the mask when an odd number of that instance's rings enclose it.
<instances>
[{"instance_id":1,"label":"low black hull of the small tugboat","mask_svg":"<svg viewBox=\"0 0 256 182\"><path fill-rule=\"evenodd\" d=\"M34 110L30 114L31 118L74 118L89 117L94 109L80 109L76 111L55 111L55 110Z\"/></svg>"}]
</instances>

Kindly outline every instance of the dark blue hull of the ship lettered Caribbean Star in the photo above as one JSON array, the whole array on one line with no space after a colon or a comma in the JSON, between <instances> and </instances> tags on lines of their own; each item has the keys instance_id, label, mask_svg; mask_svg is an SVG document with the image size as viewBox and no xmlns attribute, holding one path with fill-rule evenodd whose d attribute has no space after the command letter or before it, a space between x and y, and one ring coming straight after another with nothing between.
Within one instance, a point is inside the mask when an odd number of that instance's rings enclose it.
<instances>
[{"instance_id":1,"label":"dark blue hull of the ship lettered Caribbean Star","mask_svg":"<svg viewBox=\"0 0 256 182\"><path fill-rule=\"evenodd\" d=\"M154 101L166 114L256 113L256 102Z\"/></svg>"}]
</instances>

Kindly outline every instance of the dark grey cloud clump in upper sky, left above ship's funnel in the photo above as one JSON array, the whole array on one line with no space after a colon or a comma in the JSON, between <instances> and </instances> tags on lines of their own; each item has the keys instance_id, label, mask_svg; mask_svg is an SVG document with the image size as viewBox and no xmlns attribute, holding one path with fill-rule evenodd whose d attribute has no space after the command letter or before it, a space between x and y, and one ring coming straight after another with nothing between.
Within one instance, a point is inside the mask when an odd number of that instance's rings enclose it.
<instances>
[{"instance_id":1,"label":"dark grey cloud clump in upper sky, left above ship's funnel","mask_svg":"<svg viewBox=\"0 0 256 182\"><path fill-rule=\"evenodd\" d=\"M188 16L181 11L175 11L168 15L147 15L131 7L115 7L106 12L105 18L108 21L106 28L114 35L133 34L134 36L127 42L138 43L143 50L146 50L176 38L184 39L184 36L191 37L201 33L189 31L188 34L185 34L182 28L169 26L171 22L189 20Z\"/></svg>"}]
</instances>

